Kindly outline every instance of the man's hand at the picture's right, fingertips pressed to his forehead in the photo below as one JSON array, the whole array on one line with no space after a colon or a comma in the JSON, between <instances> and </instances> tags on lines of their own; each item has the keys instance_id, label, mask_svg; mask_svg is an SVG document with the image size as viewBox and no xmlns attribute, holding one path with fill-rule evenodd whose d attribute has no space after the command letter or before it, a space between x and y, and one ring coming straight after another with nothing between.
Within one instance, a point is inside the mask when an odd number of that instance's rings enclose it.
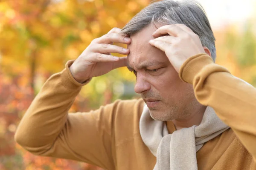
<instances>
[{"instance_id":1,"label":"man's hand at the picture's right, fingertips pressed to his forehead","mask_svg":"<svg viewBox=\"0 0 256 170\"><path fill-rule=\"evenodd\" d=\"M152 35L149 44L165 52L177 72L186 59L205 53L198 35L184 24L161 26Z\"/></svg>"}]
</instances>

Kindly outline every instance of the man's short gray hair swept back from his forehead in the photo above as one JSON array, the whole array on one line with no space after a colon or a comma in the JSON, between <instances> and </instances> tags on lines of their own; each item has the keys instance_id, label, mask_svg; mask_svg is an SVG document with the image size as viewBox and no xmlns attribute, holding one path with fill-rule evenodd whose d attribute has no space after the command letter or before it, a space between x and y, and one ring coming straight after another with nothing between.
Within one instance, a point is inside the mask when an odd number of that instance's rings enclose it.
<instances>
[{"instance_id":1,"label":"man's short gray hair swept back from his forehead","mask_svg":"<svg viewBox=\"0 0 256 170\"><path fill-rule=\"evenodd\" d=\"M209 20L200 3L194 0L161 0L151 3L137 13L122 29L121 34L135 35L151 23L161 25L184 24L192 29L206 46L215 61L215 37Z\"/></svg>"}]
</instances>

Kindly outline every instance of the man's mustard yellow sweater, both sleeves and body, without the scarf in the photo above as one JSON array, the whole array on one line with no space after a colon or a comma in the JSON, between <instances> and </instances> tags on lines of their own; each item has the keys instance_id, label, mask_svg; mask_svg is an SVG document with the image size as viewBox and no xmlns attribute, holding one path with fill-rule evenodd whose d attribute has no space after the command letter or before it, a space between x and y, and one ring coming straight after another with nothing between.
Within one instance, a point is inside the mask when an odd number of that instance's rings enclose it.
<instances>
[{"instance_id":1,"label":"man's mustard yellow sweater, both sleeves and body, without the scarf","mask_svg":"<svg viewBox=\"0 0 256 170\"><path fill-rule=\"evenodd\" d=\"M143 100L115 101L68 114L81 86L69 66L52 75L20 121L15 140L36 155L67 158L107 170L152 170L156 158L140 136ZM233 77L208 55L189 58L180 78L193 84L201 104L231 127L197 152L199 170L256 169L256 89ZM84 87L86 88L86 86ZM175 131L167 122L169 133Z\"/></svg>"}]
</instances>

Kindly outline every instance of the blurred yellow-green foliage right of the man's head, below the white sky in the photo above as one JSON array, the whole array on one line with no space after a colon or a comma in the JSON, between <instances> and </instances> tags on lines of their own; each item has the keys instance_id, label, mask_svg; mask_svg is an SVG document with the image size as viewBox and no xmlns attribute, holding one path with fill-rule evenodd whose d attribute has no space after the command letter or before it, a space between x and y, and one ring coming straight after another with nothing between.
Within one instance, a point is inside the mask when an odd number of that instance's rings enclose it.
<instances>
[{"instance_id":1,"label":"blurred yellow-green foliage right of the man's head, below the white sky","mask_svg":"<svg viewBox=\"0 0 256 170\"><path fill-rule=\"evenodd\" d=\"M217 63L256 86L256 23L247 20L244 25L230 25L216 36ZM215 32L216 33L216 32ZM219 39L218 39L219 38Z\"/></svg>"}]
</instances>

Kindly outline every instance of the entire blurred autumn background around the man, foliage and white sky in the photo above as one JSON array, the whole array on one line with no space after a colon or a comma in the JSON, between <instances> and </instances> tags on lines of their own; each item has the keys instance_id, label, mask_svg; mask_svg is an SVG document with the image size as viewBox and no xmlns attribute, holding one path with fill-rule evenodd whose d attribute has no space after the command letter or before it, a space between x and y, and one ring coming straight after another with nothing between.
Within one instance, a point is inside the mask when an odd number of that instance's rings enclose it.
<instances>
[{"instance_id":1,"label":"entire blurred autumn background around the man, foliage and white sky","mask_svg":"<svg viewBox=\"0 0 256 170\"><path fill-rule=\"evenodd\" d=\"M199 0L216 37L216 63L256 86L256 1ZM122 28L150 0L0 0L0 170L101 170L76 161L33 156L13 136L50 75L96 37ZM70 112L130 99L127 68L93 78Z\"/></svg>"}]
</instances>

